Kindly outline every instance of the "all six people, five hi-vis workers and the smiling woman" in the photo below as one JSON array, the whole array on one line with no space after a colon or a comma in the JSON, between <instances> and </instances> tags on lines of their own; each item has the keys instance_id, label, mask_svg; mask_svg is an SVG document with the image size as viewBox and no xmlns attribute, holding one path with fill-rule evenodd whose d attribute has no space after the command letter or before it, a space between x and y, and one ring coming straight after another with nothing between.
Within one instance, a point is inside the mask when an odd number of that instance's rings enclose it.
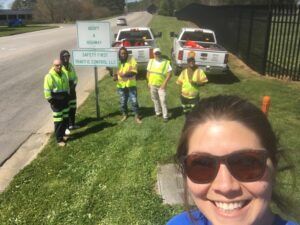
<instances>
[{"instance_id":1,"label":"all six people, five hi-vis workers and the smiling woman","mask_svg":"<svg viewBox=\"0 0 300 225\"><path fill-rule=\"evenodd\" d=\"M154 54L147 66L147 82L156 116L167 121L166 87L172 68L161 57L159 48ZM61 51L60 59L53 61L44 80L44 94L53 110L60 146L65 145L66 129L75 128L77 76L69 58L68 51ZM270 206L271 201L286 206L288 199L274 188L280 183L279 161L285 157L266 115L238 96L212 96L199 102L199 86L207 78L195 65L194 52L189 53L187 62L187 68L176 81L181 85L181 102L187 119L175 156L184 179L183 199L188 210L171 218L167 225L297 225L273 213ZM125 47L120 48L113 77L120 96L121 120L128 118L130 100L136 122L141 123L136 75L134 57ZM290 210L280 209L286 213Z\"/></svg>"}]
</instances>

